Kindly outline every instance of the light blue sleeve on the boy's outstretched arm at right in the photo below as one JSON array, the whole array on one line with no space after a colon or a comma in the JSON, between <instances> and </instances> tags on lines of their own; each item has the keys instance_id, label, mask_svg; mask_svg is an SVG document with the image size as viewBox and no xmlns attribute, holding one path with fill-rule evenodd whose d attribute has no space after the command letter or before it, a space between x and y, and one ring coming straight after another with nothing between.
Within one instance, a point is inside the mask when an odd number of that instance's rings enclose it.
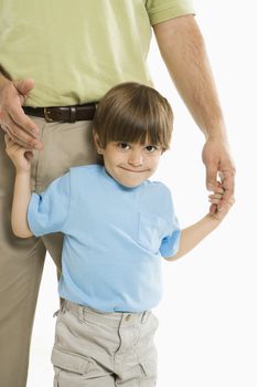
<instances>
[{"instance_id":1,"label":"light blue sleeve on the boy's outstretched arm at right","mask_svg":"<svg viewBox=\"0 0 257 387\"><path fill-rule=\"evenodd\" d=\"M161 247L160 247L160 253L163 258L173 257L176 254L179 248L180 248L180 237L181 237L181 229L178 221L178 218L174 212L174 206L171 192L168 191L167 194L168 198L164 200L165 202L165 215L167 221L168 221L168 234L162 239Z\"/></svg>"}]
</instances>

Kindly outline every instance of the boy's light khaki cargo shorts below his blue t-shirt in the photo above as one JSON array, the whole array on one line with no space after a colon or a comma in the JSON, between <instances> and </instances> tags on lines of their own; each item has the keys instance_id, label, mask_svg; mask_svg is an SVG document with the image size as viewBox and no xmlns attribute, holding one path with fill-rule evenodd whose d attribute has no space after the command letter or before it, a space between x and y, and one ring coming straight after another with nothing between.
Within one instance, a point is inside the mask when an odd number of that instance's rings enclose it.
<instances>
[{"instance_id":1,"label":"boy's light khaki cargo shorts below his blue t-shirt","mask_svg":"<svg viewBox=\"0 0 257 387\"><path fill-rule=\"evenodd\" d=\"M151 312L100 313L65 301L52 363L54 387L153 387L158 320Z\"/></svg>"}]
</instances>

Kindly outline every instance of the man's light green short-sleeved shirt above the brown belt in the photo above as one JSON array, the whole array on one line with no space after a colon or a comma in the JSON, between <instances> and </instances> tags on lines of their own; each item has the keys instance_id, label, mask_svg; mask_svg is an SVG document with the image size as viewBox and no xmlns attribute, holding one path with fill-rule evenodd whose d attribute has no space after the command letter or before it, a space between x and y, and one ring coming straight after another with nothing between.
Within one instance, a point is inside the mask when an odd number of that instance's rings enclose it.
<instances>
[{"instance_id":1,"label":"man's light green short-sleeved shirt above the brown belt","mask_svg":"<svg viewBox=\"0 0 257 387\"><path fill-rule=\"evenodd\" d=\"M190 0L0 0L0 64L35 81L26 105L98 101L120 82L151 85L151 25L189 13Z\"/></svg>"}]
</instances>

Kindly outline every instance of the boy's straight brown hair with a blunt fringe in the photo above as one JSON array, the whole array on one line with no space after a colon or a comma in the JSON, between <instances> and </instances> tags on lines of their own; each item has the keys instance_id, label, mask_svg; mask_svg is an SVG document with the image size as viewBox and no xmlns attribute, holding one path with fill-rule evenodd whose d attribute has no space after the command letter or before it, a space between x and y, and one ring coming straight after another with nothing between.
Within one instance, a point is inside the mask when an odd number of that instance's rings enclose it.
<instances>
[{"instance_id":1,"label":"boy's straight brown hair with a blunt fringe","mask_svg":"<svg viewBox=\"0 0 257 387\"><path fill-rule=\"evenodd\" d=\"M109 142L140 143L169 148L173 114L169 102L154 88L120 83L99 102L93 129L103 148Z\"/></svg>"}]
</instances>

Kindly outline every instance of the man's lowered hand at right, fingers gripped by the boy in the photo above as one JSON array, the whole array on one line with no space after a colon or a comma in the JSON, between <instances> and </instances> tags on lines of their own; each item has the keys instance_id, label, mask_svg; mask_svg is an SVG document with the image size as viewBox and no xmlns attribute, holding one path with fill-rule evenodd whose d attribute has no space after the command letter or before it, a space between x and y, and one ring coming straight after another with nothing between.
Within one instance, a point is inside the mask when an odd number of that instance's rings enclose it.
<instances>
[{"instance_id":1,"label":"man's lowered hand at right, fingers gripped by the boy","mask_svg":"<svg viewBox=\"0 0 257 387\"><path fill-rule=\"evenodd\" d=\"M216 191L219 187L219 176L222 188L224 189L222 200L217 203L213 202L210 208L210 212L215 213L227 207L234 196L235 166L226 140L219 136L211 137L206 140L202 158L206 167L206 188L211 191Z\"/></svg>"}]
</instances>

